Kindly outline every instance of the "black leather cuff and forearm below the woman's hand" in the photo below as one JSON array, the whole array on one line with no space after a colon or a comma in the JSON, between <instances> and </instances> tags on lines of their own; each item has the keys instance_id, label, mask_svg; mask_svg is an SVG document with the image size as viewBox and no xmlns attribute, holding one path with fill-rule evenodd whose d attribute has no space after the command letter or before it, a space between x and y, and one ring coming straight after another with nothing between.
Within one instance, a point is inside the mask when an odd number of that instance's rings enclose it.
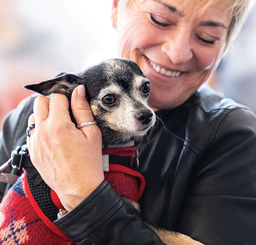
<instances>
[{"instance_id":1,"label":"black leather cuff and forearm below the woman's hand","mask_svg":"<svg viewBox=\"0 0 256 245\"><path fill-rule=\"evenodd\" d=\"M54 222L76 244L165 244L103 181L89 197Z\"/></svg>"}]
</instances>

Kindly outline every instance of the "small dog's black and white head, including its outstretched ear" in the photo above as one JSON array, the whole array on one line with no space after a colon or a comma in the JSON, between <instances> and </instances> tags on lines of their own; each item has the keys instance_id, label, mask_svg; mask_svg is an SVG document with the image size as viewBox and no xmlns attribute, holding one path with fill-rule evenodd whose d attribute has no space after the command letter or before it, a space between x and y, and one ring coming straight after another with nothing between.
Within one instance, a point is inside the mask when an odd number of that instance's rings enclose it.
<instances>
[{"instance_id":1,"label":"small dog's black and white head, including its outstretched ear","mask_svg":"<svg viewBox=\"0 0 256 245\"><path fill-rule=\"evenodd\" d=\"M149 80L131 60L109 59L80 74L61 73L24 87L42 95L66 94L70 100L78 85L85 86L105 145L138 140L154 125L155 113L147 105Z\"/></svg>"}]
</instances>

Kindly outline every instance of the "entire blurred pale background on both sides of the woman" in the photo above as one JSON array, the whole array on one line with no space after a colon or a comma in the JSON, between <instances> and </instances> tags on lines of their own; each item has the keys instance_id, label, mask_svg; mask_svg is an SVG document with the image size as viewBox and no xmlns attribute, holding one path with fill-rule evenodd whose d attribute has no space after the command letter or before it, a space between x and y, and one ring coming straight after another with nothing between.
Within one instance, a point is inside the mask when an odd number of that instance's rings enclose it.
<instances>
[{"instance_id":1,"label":"entire blurred pale background on both sides of the woman","mask_svg":"<svg viewBox=\"0 0 256 245\"><path fill-rule=\"evenodd\" d=\"M22 87L117 57L111 0L0 0L0 120ZM209 84L256 111L256 7Z\"/></svg>"}]
</instances>

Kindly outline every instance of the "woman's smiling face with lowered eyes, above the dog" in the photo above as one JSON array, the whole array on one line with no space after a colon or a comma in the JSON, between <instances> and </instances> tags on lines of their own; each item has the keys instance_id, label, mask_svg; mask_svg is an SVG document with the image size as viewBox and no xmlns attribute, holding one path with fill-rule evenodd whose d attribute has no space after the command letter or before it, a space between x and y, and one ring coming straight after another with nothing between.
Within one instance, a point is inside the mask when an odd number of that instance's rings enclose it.
<instances>
[{"instance_id":1,"label":"woman's smiling face with lowered eyes, above the dog","mask_svg":"<svg viewBox=\"0 0 256 245\"><path fill-rule=\"evenodd\" d=\"M195 3L184 5L185 0L135 0L122 10L117 2L112 22L118 53L136 62L149 78L150 107L163 110L182 104L220 62L231 0L219 0L204 12Z\"/></svg>"}]
</instances>

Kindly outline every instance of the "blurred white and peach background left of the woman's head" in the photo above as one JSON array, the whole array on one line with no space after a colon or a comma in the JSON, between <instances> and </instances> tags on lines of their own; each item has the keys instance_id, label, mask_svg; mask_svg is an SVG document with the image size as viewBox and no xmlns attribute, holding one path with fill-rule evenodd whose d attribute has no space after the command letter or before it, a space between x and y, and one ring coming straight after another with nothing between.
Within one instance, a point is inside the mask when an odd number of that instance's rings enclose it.
<instances>
[{"instance_id":1,"label":"blurred white and peach background left of the woman's head","mask_svg":"<svg viewBox=\"0 0 256 245\"><path fill-rule=\"evenodd\" d=\"M37 83L117 57L111 0L0 0L0 120Z\"/></svg>"}]
</instances>

